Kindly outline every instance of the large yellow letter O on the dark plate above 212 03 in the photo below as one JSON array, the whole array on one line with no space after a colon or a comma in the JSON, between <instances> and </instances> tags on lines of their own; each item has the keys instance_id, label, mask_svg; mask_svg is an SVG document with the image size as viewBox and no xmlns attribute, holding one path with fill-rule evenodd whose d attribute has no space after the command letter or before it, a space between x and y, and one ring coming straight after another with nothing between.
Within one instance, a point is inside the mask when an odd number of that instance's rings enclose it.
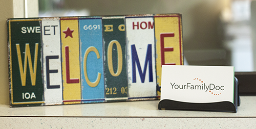
<instances>
[{"instance_id":1,"label":"large yellow letter O on the dark plate above 212 03","mask_svg":"<svg viewBox=\"0 0 256 129\"><path fill-rule=\"evenodd\" d=\"M113 61L112 61L112 49L113 49L113 44L116 44L117 47L117 60L118 60L118 65L117 65L117 71L116 73L114 72L113 69ZM113 76L118 76L120 75L121 71L122 71L122 66L123 66L123 58L122 58L122 48L121 45L118 41L116 40L112 40L108 46L108 65L109 65L109 70L111 75Z\"/></svg>"}]
</instances>

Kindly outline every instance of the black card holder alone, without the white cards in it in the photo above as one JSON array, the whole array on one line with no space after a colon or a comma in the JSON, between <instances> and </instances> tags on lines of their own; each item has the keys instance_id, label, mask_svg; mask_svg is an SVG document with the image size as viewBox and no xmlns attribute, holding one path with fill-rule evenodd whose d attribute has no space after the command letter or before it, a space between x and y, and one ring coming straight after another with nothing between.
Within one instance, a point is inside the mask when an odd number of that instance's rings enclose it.
<instances>
[{"instance_id":1,"label":"black card holder alone, without the white cards in it","mask_svg":"<svg viewBox=\"0 0 256 129\"><path fill-rule=\"evenodd\" d=\"M219 111L237 113L240 106L240 97L238 94L238 79L234 77L234 103L230 101L210 102L210 103L192 103L182 102L170 99L163 99L158 104L159 110L192 110L192 111Z\"/></svg>"}]
</instances>

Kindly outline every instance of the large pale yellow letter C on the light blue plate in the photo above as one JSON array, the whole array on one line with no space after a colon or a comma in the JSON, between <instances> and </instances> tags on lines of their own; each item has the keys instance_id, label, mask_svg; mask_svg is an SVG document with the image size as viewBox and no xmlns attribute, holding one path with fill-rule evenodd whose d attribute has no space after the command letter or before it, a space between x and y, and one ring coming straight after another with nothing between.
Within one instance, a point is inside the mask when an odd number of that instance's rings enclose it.
<instances>
[{"instance_id":1,"label":"large pale yellow letter C on the light blue plate","mask_svg":"<svg viewBox=\"0 0 256 129\"><path fill-rule=\"evenodd\" d=\"M87 48L86 50L86 53L84 54L84 59L83 59L83 73L84 73L84 76L86 78L86 82L87 84L90 86L90 87L96 87L98 84L99 84L99 81L100 81L100 77L101 77L101 73L98 72L98 76L97 76L97 79L95 82L91 82L88 78L88 74L87 74L87 68L86 68L86 64L87 64L87 57L88 57L88 54L93 51L96 56L97 56L97 59L100 58L99 56L99 51L93 47L93 46L90 46Z\"/></svg>"}]
</instances>

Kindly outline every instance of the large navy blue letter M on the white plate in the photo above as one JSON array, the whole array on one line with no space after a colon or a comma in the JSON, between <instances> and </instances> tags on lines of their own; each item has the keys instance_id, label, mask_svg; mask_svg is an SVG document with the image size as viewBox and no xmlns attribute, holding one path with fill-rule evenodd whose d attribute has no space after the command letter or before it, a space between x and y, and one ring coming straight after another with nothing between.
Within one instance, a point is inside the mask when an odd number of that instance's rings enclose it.
<instances>
[{"instance_id":1,"label":"large navy blue letter M on the white plate","mask_svg":"<svg viewBox=\"0 0 256 129\"><path fill-rule=\"evenodd\" d=\"M147 63L148 63L148 69L149 69L149 80L150 80L150 82L153 82L152 45L151 44L147 45L146 59L145 59L143 72L141 70L140 61L139 61L139 58L138 58L136 47L135 47L134 44L131 47L132 47L133 83L136 83L136 64L137 64L137 68L139 70L141 83L145 82Z\"/></svg>"}]
</instances>

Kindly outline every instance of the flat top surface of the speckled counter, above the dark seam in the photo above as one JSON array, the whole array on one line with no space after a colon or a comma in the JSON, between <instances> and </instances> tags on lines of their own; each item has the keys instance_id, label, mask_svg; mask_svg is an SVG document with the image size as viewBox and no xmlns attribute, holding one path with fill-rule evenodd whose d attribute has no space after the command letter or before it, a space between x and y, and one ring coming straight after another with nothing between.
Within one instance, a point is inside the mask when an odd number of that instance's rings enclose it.
<instances>
[{"instance_id":1,"label":"flat top surface of the speckled counter, above the dark seam","mask_svg":"<svg viewBox=\"0 0 256 129\"><path fill-rule=\"evenodd\" d=\"M256 117L255 96L241 96L241 106L238 107L237 113L158 110L158 102L159 100L148 100L23 108L9 108L9 105L0 105L0 116Z\"/></svg>"}]
</instances>

